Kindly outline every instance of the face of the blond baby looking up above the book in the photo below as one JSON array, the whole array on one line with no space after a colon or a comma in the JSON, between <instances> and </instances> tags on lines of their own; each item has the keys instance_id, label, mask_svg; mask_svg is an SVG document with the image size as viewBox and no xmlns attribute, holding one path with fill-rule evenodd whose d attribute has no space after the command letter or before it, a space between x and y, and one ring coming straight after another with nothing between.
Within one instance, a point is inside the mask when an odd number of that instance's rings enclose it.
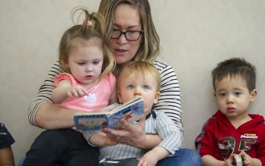
<instances>
[{"instance_id":1,"label":"face of the blond baby looking up above the book","mask_svg":"<svg viewBox=\"0 0 265 166\"><path fill-rule=\"evenodd\" d=\"M141 74L132 73L129 76L120 77L120 87L117 91L117 96L121 103L142 96L144 108L148 108L148 112L145 113L147 114L160 96L160 92L156 91L156 87L157 82L152 75L146 74L144 77Z\"/></svg>"}]
</instances>

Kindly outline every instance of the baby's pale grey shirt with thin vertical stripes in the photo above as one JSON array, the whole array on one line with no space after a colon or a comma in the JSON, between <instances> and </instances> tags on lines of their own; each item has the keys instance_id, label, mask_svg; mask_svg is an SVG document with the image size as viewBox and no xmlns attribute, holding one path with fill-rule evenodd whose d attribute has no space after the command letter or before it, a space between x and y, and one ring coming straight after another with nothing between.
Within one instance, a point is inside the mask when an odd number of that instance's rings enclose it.
<instances>
[{"instance_id":1,"label":"baby's pale grey shirt with thin vertical stripes","mask_svg":"<svg viewBox=\"0 0 265 166\"><path fill-rule=\"evenodd\" d=\"M163 112L156 112L156 118L151 115L145 121L145 132L146 134L158 134L161 137L162 142L157 145L163 147L171 153L175 154L175 151L181 147L182 139L181 133L175 127L174 123L169 117ZM137 123L137 122L134 122ZM83 135L86 140L97 131L84 131ZM91 144L90 144L91 145ZM100 147L99 160L121 160L125 158L140 158L146 153L146 151L131 147L124 144L117 144L115 146Z\"/></svg>"}]
</instances>

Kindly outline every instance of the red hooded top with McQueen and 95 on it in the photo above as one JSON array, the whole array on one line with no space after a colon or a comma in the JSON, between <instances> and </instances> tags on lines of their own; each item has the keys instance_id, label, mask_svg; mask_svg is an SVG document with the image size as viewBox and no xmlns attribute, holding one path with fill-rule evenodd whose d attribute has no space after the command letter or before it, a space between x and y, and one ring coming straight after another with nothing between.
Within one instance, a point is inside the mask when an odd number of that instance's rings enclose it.
<instances>
[{"instance_id":1,"label":"red hooded top with McQueen and 95 on it","mask_svg":"<svg viewBox=\"0 0 265 166\"><path fill-rule=\"evenodd\" d=\"M265 165L265 123L260 115L249 114L252 120L237 129L220 112L204 124L195 140L197 152L202 156L211 155L226 160L230 154L245 151Z\"/></svg>"}]
</instances>

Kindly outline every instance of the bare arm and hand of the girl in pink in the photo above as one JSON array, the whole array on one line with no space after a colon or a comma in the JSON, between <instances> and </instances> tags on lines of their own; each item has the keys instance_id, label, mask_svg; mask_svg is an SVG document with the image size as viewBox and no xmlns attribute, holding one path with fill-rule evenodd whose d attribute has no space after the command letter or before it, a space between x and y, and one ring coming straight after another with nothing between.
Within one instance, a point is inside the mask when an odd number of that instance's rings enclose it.
<instances>
[{"instance_id":1,"label":"bare arm and hand of the girl in pink","mask_svg":"<svg viewBox=\"0 0 265 166\"><path fill-rule=\"evenodd\" d=\"M85 88L81 86L72 86L71 83L63 79L57 85L57 88L52 91L51 100L56 104L63 103L68 97L82 97L84 94L88 95Z\"/></svg>"}]
</instances>

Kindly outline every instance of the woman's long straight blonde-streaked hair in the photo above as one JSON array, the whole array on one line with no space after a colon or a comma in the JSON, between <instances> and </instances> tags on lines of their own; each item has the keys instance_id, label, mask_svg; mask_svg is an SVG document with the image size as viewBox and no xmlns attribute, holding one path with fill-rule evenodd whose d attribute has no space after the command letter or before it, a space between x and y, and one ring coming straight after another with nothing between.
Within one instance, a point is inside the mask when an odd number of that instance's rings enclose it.
<instances>
[{"instance_id":1,"label":"woman's long straight blonde-streaked hair","mask_svg":"<svg viewBox=\"0 0 265 166\"><path fill-rule=\"evenodd\" d=\"M134 57L135 61L151 62L160 52L160 39L154 28L148 0L101 0L98 13L102 14L107 24L108 44L114 24L114 11L120 4L127 4L138 9L143 28L143 41Z\"/></svg>"}]
</instances>

